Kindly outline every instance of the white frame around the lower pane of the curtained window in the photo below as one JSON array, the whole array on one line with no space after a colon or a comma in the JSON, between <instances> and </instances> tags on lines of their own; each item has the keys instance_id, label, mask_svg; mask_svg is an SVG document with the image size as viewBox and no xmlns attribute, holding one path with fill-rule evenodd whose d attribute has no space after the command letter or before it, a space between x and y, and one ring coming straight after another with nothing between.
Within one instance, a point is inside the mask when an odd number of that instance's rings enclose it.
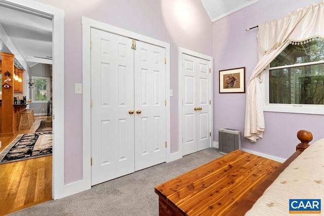
<instances>
[{"instance_id":1,"label":"white frame around the lower pane of the curtained window","mask_svg":"<svg viewBox=\"0 0 324 216\"><path fill-rule=\"evenodd\" d=\"M263 97L263 111L265 112L286 112L286 113L302 113L302 114L324 114L324 105L314 105L314 104L273 104L269 103L269 70L281 69L281 68L289 68L296 66L305 66L305 65L315 65L315 64L323 64L324 61L318 62L307 62L302 64L294 64L294 65L285 65L270 68L270 65L267 69L265 69L263 75L263 82L261 84L261 90L264 93Z\"/></svg>"}]
</instances>

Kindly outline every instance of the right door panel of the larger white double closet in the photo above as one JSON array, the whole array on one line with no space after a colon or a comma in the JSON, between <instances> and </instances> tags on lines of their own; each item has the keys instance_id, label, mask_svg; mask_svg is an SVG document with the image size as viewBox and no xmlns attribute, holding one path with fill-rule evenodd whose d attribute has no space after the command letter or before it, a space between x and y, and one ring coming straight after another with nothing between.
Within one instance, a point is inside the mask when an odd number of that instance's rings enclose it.
<instances>
[{"instance_id":1,"label":"right door panel of the larger white double closet","mask_svg":"<svg viewBox=\"0 0 324 216\"><path fill-rule=\"evenodd\" d=\"M165 49L137 41L134 52L135 170L166 161Z\"/></svg>"}]
</instances>

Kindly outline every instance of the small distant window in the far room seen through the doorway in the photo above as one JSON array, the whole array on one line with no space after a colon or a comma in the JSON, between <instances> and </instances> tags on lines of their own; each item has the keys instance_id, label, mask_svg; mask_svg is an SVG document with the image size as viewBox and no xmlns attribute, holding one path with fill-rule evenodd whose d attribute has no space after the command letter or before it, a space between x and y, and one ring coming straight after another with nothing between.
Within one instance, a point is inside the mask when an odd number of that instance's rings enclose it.
<instances>
[{"instance_id":1,"label":"small distant window in the far room seen through the doorway","mask_svg":"<svg viewBox=\"0 0 324 216\"><path fill-rule=\"evenodd\" d=\"M38 103L47 103L49 96L50 78L32 76L34 88L32 89L31 100Z\"/></svg>"}]
</instances>

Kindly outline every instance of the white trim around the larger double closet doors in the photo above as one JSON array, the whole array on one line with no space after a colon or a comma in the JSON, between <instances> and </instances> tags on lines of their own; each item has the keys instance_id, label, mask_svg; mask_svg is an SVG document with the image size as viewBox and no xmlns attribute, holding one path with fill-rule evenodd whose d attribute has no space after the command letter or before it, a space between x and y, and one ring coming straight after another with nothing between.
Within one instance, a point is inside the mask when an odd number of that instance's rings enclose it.
<instances>
[{"instance_id":1,"label":"white trim around the larger double closet doors","mask_svg":"<svg viewBox=\"0 0 324 216\"><path fill-rule=\"evenodd\" d=\"M167 162L170 161L170 44L96 20L82 17L83 29L83 181L91 188L91 65L90 65L90 28L135 38L166 49L166 142Z\"/></svg>"}]
</instances>

